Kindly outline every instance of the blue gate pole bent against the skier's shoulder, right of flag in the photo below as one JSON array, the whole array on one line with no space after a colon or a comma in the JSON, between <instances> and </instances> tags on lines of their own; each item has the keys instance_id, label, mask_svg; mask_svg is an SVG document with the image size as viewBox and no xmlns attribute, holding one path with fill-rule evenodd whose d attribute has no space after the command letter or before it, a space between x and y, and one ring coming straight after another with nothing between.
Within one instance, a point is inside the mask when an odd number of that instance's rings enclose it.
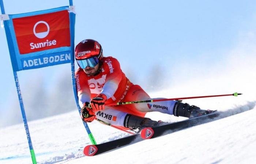
<instances>
[{"instance_id":1,"label":"blue gate pole bent against the skier's shoulder, right of flag","mask_svg":"<svg viewBox=\"0 0 256 164\"><path fill-rule=\"evenodd\" d=\"M73 2L72 0L69 0L69 6L72 6L73 5ZM72 77L72 84L73 84L73 91L74 91L74 96L75 96L75 100L76 100L76 106L78 108L78 111L79 111L79 114L80 114L80 111L81 111L81 108L79 106L79 102L78 102L78 96L77 96L77 90L76 90L76 81L75 81L75 59L74 59L74 49L75 49L75 45L74 45L74 42L75 42L75 13L72 13L70 12L70 24L71 24L71 27L70 27L70 30L71 30L71 77ZM88 133L88 136L91 140L91 143L93 145L97 144L94 137L93 137L93 134L91 133L91 130L89 128L89 126L87 125L86 122L83 122L84 124L84 127Z\"/></svg>"}]
</instances>

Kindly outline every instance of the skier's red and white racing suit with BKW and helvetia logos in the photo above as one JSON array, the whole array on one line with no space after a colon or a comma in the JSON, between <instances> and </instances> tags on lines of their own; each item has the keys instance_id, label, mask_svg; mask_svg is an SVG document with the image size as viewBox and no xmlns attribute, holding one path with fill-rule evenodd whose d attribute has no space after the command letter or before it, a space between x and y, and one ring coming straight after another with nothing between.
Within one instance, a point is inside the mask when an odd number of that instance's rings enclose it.
<instances>
[{"instance_id":1,"label":"skier's red and white racing suit with BKW and helvetia logos","mask_svg":"<svg viewBox=\"0 0 256 164\"><path fill-rule=\"evenodd\" d=\"M139 85L134 85L129 81L117 59L103 57L101 62L100 72L95 76L87 75L80 68L76 70L76 86L81 108L84 102L90 102L100 93L107 97L105 104L150 99L150 96ZM96 117L112 125L124 126L127 113L141 117L152 111L173 114L174 104L175 101L162 101L150 104L105 105L105 110L98 111Z\"/></svg>"}]
</instances>

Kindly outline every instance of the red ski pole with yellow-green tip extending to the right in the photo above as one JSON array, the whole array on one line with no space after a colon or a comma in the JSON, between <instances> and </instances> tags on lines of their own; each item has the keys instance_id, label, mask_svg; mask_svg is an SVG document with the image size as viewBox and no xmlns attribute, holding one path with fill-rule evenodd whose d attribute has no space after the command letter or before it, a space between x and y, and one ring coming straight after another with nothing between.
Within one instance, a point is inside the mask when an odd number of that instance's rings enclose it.
<instances>
[{"instance_id":1,"label":"red ski pole with yellow-green tip extending to the right","mask_svg":"<svg viewBox=\"0 0 256 164\"><path fill-rule=\"evenodd\" d=\"M117 102L117 103L110 103L105 104L108 106L112 105L125 105L125 104L137 104L137 103L145 103L145 102L158 102L158 101L169 101L169 100L179 100L179 99L192 99L192 98L206 98L206 97L220 97L220 96L237 96L241 95L242 93L233 93L233 94L221 94L221 95L208 95L208 96L196 96L196 97L180 97L180 98L165 98L165 99L151 99L151 100L141 100L141 101L128 101L128 102Z\"/></svg>"}]
</instances>

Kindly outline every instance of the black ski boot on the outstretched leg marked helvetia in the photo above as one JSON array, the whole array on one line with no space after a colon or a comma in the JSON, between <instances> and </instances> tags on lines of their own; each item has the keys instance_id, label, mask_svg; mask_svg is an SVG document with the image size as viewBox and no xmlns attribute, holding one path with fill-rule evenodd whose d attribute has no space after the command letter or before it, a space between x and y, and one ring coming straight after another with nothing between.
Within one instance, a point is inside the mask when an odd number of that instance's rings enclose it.
<instances>
[{"instance_id":1,"label":"black ski boot on the outstretched leg marked helvetia","mask_svg":"<svg viewBox=\"0 0 256 164\"><path fill-rule=\"evenodd\" d=\"M173 114L174 116L182 116L182 117L198 117L206 114L210 114L212 112L215 112L216 110L203 110L195 105L189 105L187 103L182 103L180 101L176 102L173 108Z\"/></svg>"}]
</instances>

